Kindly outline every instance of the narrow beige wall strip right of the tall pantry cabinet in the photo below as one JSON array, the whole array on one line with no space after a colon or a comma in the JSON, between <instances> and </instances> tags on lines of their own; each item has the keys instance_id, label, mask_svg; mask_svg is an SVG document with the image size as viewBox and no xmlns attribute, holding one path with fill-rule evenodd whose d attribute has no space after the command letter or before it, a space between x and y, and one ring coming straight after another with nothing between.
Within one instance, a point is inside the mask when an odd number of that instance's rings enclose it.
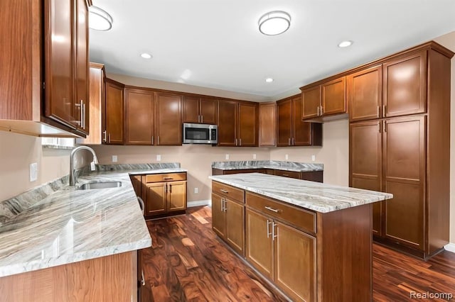
<instances>
[{"instance_id":1,"label":"narrow beige wall strip right of the tall pantry cabinet","mask_svg":"<svg viewBox=\"0 0 455 302\"><path fill-rule=\"evenodd\" d=\"M455 52L455 31L434 40ZM450 114L450 242L455 244L455 57L451 60Z\"/></svg>"}]
</instances>

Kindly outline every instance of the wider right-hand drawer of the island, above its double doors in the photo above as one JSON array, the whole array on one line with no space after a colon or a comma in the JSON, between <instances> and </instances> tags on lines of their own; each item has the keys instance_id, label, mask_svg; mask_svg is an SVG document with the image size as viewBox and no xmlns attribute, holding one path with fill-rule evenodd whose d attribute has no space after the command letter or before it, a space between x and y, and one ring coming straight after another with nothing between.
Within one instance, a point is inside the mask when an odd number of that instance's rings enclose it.
<instances>
[{"instance_id":1,"label":"wider right-hand drawer of the island, above its double doors","mask_svg":"<svg viewBox=\"0 0 455 302\"><path fill-rule=\"evenodd\" d=\"M306 211L302 208L288 206L279 201L264 198L250 192L246 194L246 202L247 206L261 213L279 218L284 222L308 230L311 233L316 233L316 213Z\"/></svg>"}]
</instances>

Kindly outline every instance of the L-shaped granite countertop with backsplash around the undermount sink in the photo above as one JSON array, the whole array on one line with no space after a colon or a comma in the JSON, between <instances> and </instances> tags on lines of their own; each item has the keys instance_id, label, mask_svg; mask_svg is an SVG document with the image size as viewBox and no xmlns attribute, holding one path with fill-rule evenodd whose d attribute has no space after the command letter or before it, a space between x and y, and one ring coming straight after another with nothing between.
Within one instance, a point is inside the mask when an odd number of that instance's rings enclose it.
<instances>
[{"instance_id":1,"label":"L-shaped granite countertop with backsplash around the undermount sink","mask_svg":"<svg viewBox=\"0 0 455 302\"><path fill-rule=\"evenodd\" d=\"M0 276L151 246L129 174L186 169L180 164L97 168L78 177L76 186L68 186L67 176L0 203ZM92 181L121 181L122 186L76 189Z\"/></svg>"}]
</instances>

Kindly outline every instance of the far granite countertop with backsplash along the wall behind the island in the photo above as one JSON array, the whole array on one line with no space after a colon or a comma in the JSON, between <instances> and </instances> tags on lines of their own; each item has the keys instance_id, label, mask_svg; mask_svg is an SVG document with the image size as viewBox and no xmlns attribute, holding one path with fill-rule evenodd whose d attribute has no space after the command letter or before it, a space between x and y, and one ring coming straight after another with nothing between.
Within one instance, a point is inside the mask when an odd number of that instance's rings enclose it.
<instances>
[{"instance_id":1,"label":"far granite countertop with backsplash along the wall behind the island","mask_svg":"<svg viewBox=\"0 0 455 302\"><path fill-rule=\"evenodd\" d=\"M247 160L237 162L213 162L212 168L220 170L277 169L293 172L323 171L323 164L306 162L280 162L278 160Z\"/></svg>"}]
</instances>

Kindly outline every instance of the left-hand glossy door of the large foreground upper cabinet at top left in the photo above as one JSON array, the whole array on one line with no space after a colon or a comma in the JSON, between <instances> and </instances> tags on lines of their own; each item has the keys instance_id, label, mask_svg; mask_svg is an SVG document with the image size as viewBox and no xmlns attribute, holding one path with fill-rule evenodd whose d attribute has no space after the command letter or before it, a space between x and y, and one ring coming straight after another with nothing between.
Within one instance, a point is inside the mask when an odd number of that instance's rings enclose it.
<instances>
[{"instance_id":1,"label":"left-hand glossy door of the large foreground upper cabinet at top left","mask_svg":"<svg viewBox=\"0 0 455 302\"><path fill-rule=\"evenodd\" d=\"M44 1L45 116L76 128L80 123L73 96L73 0ZM19 38L19 37L18 37Z\"/></svg>"}]
</instances>

